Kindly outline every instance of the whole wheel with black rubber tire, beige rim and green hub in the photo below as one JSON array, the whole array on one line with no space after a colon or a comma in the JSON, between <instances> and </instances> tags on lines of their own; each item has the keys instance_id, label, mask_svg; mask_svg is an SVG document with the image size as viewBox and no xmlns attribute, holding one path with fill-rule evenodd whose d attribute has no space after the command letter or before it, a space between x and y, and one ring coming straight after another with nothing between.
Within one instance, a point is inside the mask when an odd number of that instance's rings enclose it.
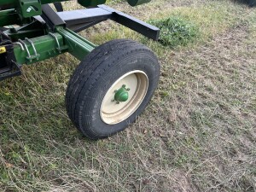
<instances>
[{"instance_id":1,"label":"whole wheel with black rubber tire, beige rim and green hub","mask_svg":"<svg viewBox=\"0 0 256 192\"><path fill-rule=\"evenodd\" d=\"M90 139L111 136L143 112L159 77L158 59L143 44L128 39L102 44L74 71L67 86L67 114Z\"/></svg>"}]
</instances>

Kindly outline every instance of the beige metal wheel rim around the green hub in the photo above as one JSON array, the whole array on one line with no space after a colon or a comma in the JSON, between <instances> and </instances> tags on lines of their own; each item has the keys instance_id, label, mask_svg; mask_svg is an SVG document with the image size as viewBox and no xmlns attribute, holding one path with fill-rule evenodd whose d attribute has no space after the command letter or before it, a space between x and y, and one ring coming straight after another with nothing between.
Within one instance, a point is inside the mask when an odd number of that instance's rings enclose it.
<instances>
[{"instance_id":1,"label":"beige metal wheel rim around the green hub","mask_svg":"<svg viewBox=\"0 0 256 192\"><path fill-rule=\"evenodd\" d=\"M116 90L125 84L129 94L125 102L114 100ZM108 125L115 125L129 118L142 104L148 91L148 76L143 71L125 73L108 89L102 100L101 118Z\"/></svg>"}]
</instances>

